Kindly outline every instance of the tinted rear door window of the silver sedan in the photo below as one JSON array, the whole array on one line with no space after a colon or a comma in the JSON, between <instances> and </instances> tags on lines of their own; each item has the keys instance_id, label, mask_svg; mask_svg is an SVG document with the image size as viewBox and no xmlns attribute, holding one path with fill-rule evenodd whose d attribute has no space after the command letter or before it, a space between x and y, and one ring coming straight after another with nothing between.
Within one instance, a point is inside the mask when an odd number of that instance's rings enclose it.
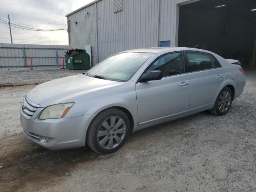
<instances>
[{"instance_id":1,"label":"tinted rear door window of the silver sedan","mask_svg":"<svg viewBox=\"0 0 256 192\"><path fill-rule=\"evenodd\" d=\"M214 68L210 55L204 53L186 52L189 62L189 72Z\"/></svg>"}]
</instances>

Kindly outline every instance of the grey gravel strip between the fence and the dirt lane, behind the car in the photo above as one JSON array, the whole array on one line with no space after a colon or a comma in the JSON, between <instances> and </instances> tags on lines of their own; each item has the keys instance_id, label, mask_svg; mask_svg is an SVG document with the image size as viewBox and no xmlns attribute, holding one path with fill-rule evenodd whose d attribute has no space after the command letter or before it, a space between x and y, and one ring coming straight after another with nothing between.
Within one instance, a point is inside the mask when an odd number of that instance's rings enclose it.
<instances>
[{"instance_id":1,"label":"grey gravel strip between the fence and the dirt lane, behind the car","mask_svg":"<svg viewBox=\"0 0 256 192\"><path fill-rule=\"evenodd\" d=\"M56 78L80 74L86 70L67 70L60 67L0 68L0 87L39 84Z\"/></svg>"}]
</instances>

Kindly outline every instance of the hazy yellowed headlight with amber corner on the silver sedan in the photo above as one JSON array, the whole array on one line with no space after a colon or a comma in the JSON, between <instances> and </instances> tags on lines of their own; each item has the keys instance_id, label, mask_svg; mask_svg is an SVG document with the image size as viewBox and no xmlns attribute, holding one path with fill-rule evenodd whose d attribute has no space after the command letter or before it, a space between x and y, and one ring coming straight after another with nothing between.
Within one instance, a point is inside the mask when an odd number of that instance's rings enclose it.
<instances>
[{"instance_id":1,"label":"hazy yellowed headlight with amber corner on the silver sedan","mask_svg":"<svg viewBox=\"0 0 256 192\"><path fill-rule=\"evenodd\" d=\"M56 105L50 105L41 112L39 119L58 119L64 117L67 112L70 110L70 108L74 105L74 102L72 103L62 103L62 104L56 104Z\"/></svg>"}]
</instances>

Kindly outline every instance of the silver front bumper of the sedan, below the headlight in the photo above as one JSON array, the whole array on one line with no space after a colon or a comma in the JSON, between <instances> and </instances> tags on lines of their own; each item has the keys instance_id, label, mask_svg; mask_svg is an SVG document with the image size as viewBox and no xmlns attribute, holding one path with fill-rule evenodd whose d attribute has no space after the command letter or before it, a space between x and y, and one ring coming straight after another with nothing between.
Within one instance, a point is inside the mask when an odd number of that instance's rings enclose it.
<instances>
[{"instance_id":1,"label":"silver front bumper of the sedan, below the headlight","mask_svg":"<svg viewBox=\"0 0 256 192\"><path fill-rule=\"evenodd\" d=\"M24 134L44 148L60 150L85 146L86 132L94 114L60 119L38 119L43 108L27 119L20 113Z\"/></svg>"}]
</instances>

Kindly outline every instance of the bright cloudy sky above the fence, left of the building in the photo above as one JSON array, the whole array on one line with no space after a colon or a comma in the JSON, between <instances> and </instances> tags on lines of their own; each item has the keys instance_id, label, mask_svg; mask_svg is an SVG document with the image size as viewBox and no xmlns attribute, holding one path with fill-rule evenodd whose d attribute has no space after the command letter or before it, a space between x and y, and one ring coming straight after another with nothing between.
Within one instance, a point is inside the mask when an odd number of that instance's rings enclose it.
<instances>
[{"instance_id":1,"label":"bright cloudy sky above the fence, left of the building","mask_svg":"<svg viewBox=\"0 0 256 192\"><path fill-rule=\"evenodd\" d=\"M38 29L66 29L65 15L93 0L0 0L0 19ZM12 41L18 44L68 45L67 30L41 32L12 27ZM11 43L7 24L0 22L0 43Z\"/></svg>"}]
</instances>

